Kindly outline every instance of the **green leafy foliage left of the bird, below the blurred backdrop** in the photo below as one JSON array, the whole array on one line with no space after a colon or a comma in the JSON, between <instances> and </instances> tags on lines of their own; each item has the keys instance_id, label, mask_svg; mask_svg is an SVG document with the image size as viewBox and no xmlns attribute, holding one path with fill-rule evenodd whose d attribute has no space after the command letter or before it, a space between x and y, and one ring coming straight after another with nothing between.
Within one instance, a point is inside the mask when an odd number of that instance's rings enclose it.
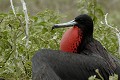
<instances>
[{"instance_id":1,"label":"green leafy foliage left of the bird, below the blurred backdrop","mask_svg":"<svg viewBox=\"0 0 120 80\"><path fill-rule=\"evenodd\" d=\"M25 19L22 13L0 14L0 77L8 80L31 79L31 57L41 48L59 49L63 30L51 31L59 16L46 10L29 16L29 47L25 46ZM12 76L12 77L11 77Z\"/></svg>"}]
</instances>

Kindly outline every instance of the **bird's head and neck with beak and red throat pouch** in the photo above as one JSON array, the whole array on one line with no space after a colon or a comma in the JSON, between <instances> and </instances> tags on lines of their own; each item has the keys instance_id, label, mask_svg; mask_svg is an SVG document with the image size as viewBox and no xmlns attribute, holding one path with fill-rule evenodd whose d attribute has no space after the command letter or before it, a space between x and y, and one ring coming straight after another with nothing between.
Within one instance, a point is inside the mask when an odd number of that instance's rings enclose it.
<instances>
[{"instance_id":1,"label":"bird's head and neck with beak and red throat pouch","mask_svg":"<svg viewBox=\"0 0 120 80\"><path fill-rule=\"evenodd\" d=\"M52 29L62 28L62 27L71 27L68 29L60 43L60 49L65 52L79 52L80 46L84 46L86 39L93 36L93 20L87 14L82 14L77 16L74 20L55 24ZM81 47L82 47L81 46Z\"/></svg>"}]
</instances>

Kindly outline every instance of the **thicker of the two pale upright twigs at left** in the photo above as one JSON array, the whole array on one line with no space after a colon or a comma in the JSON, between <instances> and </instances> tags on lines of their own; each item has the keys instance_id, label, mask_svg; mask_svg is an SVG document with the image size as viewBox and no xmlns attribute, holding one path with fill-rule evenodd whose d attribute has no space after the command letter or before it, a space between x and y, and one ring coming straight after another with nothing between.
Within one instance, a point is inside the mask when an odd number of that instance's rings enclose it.
<instances>
[{"instance_id":1,"label":"thicker of the two pale upright twigs at left","mask_svg":"<svg viewBox=\"0 0 120 80\"><path fill-rule=\"evenodd\" d=\"M28 17L28 13L27 13L27 8L26 8L26 3L24 0L21 0L21 3L23 5L23 12L25 15L25 21L26 21L26 47L28 47L28 42L29 42L29 17Z\"/></svg>"}]
</instances>

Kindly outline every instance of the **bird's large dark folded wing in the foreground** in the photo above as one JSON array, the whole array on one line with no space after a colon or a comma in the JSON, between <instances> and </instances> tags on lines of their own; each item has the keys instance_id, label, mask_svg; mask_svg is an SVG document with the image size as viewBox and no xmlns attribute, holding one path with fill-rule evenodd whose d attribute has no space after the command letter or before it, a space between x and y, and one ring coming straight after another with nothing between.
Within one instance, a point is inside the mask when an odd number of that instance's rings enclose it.
<instances>
[{"instance_id":1,"label":"bird's large dark folded wing in the foreground","mask_svg":"<svg viewBox=\"0 0 120 80\"><path fill-rule=\"evenodd\" d=\"M92 75L99 77L96 69L104 80L113 73L110 65L99 55L43 49L32 58L33 80L87 80Z\"/></svg>"}]
</instances>

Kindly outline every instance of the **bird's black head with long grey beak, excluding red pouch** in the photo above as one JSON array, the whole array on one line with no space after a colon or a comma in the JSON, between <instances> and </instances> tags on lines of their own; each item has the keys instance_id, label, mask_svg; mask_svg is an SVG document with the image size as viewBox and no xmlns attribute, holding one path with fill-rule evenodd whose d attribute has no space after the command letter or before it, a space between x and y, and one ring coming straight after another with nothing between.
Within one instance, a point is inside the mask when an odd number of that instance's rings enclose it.
<instances>
[{"instance_id":1,"label":"bird's black head with long grey beak, excluding red pouch","mask_svg":"<svg viewBox=\"0 0 120 80\"><path fill-rule=\"evenodd\" d=\"M67 23L55 24L52 29L72 26L80 28L83 34L86 36L90 36L93 34L93 20L87 14L79 15L74 20Z\"/></svg>"}]
</instances>

